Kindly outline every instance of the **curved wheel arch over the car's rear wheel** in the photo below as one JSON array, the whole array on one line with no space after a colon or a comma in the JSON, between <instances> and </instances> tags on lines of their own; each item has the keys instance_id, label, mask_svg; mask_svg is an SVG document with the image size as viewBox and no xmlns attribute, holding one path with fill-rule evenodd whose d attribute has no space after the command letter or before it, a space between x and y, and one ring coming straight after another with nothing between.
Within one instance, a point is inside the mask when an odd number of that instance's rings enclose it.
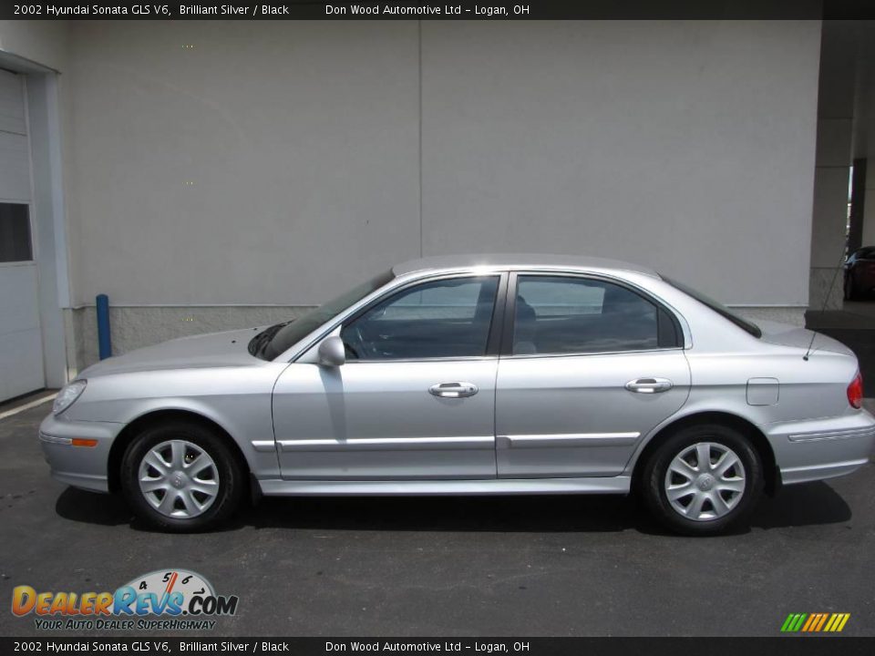
<instances>
[{"instance_id":1,"label":"curved wheel arch over the car's rear wheel","mask_svg":"<svg viewBox=\"0 0 875 656\"><path fill-rule=\"evenodd\" d=\"M643 449L638 452L637 456L634 456L635 460L632 469L633 487L638 486L647 460L653 456L654 451L663 444L667 437L674 435L674 433L687 426L697 424L726 425L730 428L735 428L737 431L744 434L750 440L754 448L757 449L757 455L763 463L763 477L765 479L764 483L766 493L769 496L774 496L777 493L777 490L781 487L781 475L780 470L777 468L775 452L772 449L771 444L769 444L768 438L759 428L757 428L757 425L749 420L742 416L733 415L732 413L723 411L696 412L691 415L679 417L673 422L661 427L654 436L647 441L643 446Z\"/></svg>"}]
</instances>

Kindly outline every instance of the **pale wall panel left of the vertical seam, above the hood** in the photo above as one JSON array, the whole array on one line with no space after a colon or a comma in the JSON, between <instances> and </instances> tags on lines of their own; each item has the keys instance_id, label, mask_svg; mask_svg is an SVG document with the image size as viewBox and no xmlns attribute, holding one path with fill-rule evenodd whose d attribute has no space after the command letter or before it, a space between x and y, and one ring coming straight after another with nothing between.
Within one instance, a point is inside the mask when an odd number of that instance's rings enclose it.
<instances>
[{"instance_id":1,"label":"pale wall panel left of the vertical seam, above the hood","mask_svg":"<svg viewBox=\"0 0 875 656\"><path fill-rule=\"evenodd\" d=\"M315 304L418 256L416 23L73 35L77 303Z\"/></svg>"}]
</instances>

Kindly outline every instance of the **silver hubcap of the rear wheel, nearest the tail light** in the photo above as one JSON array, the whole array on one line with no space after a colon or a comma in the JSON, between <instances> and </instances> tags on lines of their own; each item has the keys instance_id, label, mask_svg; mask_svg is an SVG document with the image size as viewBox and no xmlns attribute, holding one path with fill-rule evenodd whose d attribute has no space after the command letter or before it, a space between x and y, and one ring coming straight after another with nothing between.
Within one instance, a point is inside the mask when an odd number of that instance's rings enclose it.
<instances>
[{"instance_id":1,"label":"silver hubcap of the rear wheel, nearest the tail light","mask_svg":"<svg viewBox=\"0 0 875 656\"><path fill-rule=\"evenodd\" d=\"M745 466L736 452L714 442L686 446L665 472L665 496L687 519L722 518L745 494Z\"/></svg>"}]
</instances>

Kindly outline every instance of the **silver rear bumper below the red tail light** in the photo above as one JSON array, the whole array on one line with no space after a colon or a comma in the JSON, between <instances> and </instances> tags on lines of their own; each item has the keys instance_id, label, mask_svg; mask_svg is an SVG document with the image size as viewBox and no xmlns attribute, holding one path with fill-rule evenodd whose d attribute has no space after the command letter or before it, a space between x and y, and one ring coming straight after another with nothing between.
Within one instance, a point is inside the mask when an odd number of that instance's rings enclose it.
<instances>
[{"instance_id":1,"label":"silver rear bumper below the red tail light","mask_svg":"<svg viewBox=\"0 0 875 656\"><path fill-rule=\"evenodd\" d=\"M875 448L875 418L865 410L761 428L785 485L850 474L870 461Z\"/></svg>"}]
</instances>

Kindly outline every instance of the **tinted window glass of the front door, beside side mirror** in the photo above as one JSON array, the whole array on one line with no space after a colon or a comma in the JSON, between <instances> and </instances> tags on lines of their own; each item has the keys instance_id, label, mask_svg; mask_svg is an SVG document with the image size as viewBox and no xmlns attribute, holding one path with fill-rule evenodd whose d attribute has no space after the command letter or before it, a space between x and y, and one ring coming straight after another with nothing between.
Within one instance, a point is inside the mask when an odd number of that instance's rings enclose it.
<instances>
[{"instance_id":1,"label":"tinted window glass of the front door, beside side mirror","mask_svg":"<svg viewBox=\"0 0 875 656\"><path fill-rule=\"evenodd\" d=\"M408 287L341 331L349 360L420 360L486 354L498 276Z\"/></svg>"}]
</instances>

